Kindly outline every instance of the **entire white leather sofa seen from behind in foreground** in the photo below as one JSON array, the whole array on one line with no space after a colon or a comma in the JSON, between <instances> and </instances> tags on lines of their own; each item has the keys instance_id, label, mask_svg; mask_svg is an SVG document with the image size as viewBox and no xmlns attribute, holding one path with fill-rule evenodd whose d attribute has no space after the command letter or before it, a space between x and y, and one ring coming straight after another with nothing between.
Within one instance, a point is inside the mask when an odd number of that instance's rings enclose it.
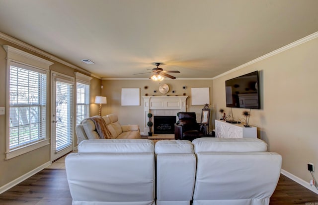
<instances>
[{"instance_id":1,"label":"entire white leather sofa seen from behind in foreground","mask_svg":"<svg viewBox=\"0 0 318 205\"><path fill-rule=\"evenodd\" d=\"M66 171L74 205L268 205L281 163L259 139L84 140Z\"/></svg>"}]
</instances>

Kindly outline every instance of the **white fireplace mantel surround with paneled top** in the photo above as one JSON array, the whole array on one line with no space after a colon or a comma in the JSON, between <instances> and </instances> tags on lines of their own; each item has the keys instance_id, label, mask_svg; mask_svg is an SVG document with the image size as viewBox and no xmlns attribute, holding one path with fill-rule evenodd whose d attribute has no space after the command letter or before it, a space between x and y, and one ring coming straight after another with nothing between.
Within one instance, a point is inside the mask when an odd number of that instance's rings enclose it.
<instances>
[{"instance_id":1,"label":"white fireplace mantel surround with paneled top","mask_svg":"<svg viewBox=\"0 0 318 205\"><path fill-rule=\"evenodd\" d=\"M186 111L188 96L143 96L144 99L144 135L148 134L148 113L159 115L175 115ZM167 114L168 113L168 114ZM172 113L172 114L171 114Z\"/></svg>"}]
</instances>

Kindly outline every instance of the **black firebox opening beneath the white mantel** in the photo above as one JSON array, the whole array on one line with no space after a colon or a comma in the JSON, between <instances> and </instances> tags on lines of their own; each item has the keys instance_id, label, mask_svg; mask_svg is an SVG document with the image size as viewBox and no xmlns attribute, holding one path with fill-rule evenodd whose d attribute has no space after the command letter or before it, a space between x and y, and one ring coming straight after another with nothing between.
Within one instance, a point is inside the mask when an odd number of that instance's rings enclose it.
<instances>
[{"instance_id":1,"label":"black firebox opening beneath the white mantel","mask_svg":"<svg viewBox=\"0 0 318 205\"><path fill-rule=\"evenodd\" d=\"M175 116L154 116L154 134L173 134Z\"/></svg>"}]
</instances>

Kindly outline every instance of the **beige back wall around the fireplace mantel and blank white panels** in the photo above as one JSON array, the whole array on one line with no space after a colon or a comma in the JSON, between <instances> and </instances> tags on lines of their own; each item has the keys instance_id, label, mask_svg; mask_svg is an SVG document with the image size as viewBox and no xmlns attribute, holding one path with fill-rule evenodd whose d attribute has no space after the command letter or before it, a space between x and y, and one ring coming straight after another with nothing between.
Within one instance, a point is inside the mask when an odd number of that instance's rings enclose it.
<instances>
[{"instance_id":1,"label":"beige back wall around the fireplace mantel and blank white panels","mask_svg":"<svg viewBox=\"0 0 318 205\"><path fill-rule=\"evenodd\" d=\"M191 105L191 88L210 88L210 103L212 103L212 80L163 80L161 84L169 86L169 92L165 95L182 96L183 93L187 98L187 111L196 112L197 121L201 120L201 109L203 105ZM102 80L102 96L107 97L107 104L102 106L102 115L117 113L121 124L139 124L141 132L144 132L144 101L142 96L148 94L149 96L161 96L159 93L158 82L152 80ZM145 87L148 87L145 89ZM186 89L183 90L183 86ZM121 89L122 88L140 88L140 105L139 106L121 106ZM154 91L157 90L157 93ZM175 93L172 93L172 91Z\"/></svg>"}]
</instances>

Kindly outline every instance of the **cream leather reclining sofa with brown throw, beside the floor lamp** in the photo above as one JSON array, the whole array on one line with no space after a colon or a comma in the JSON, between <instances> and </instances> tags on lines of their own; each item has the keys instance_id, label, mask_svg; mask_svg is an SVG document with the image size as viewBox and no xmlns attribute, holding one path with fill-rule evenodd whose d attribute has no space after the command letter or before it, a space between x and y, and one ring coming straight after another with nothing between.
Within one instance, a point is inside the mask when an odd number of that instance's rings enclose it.
<instances>
[{"instance_id":1,"label":"cream leather reclining sofa with brown throw, beside the floor lamp","mask_svg":"<svg viewBox=\"0 0 318 205\"><path fill-rule=\"evenodd\" d=\"M102 117L111 133L112 139L140 139L140 129L138 124L121 125L118 122L117 114L108 114ZM85 139L100 139L96 131L96 126L89 118L84 119L76 126L78 143Z\"/></svg>"}]
</instances>

